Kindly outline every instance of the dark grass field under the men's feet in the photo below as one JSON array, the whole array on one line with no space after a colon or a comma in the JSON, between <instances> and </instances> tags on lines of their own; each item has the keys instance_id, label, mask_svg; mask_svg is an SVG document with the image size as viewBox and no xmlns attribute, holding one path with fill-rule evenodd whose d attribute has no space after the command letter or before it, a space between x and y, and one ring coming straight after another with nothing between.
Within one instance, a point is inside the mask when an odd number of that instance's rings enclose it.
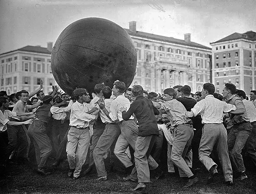
<instances>
[{"instance_id":1,"label":"dark grass field under the men's feet","mask_svg":"<svg viewBox=\"0 0 256 194\"><path fill-rule=\"evenodd\" d=\"M53 161L51 161L53 162ZM68 163L62 164L53 170L53 174L43 176L37 174L33 165L8 166L9 175L0 180L0 194L254 194L256 193L256 170L247 171L248 179L235 181L233 186L223 184L223 176L215 177L215 182L206 185L208 174L199 171L199 182L189 188L183 188L186 182L176 174L167 174L160 180L151 179L146 189L138 192L130 191L137 183L124 182L119 172L109 173L108 180L97 181L96 172L88 176L73 180L66 173Z\"/></svg>"}]
</instances>

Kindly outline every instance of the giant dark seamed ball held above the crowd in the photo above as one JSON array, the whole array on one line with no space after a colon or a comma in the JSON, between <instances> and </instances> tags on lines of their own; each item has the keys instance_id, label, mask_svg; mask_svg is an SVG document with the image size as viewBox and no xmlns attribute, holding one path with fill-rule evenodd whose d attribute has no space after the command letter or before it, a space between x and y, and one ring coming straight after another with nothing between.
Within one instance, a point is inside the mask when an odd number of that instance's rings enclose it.
<instances>
[{"instance_id":1,"label":"giant dark seamed ball held above the crowd","mask_svg":"<svg viewBox=\"0 0 256 194\"><path fill-rule=\"evenodd\" d=\"M97 83L112 88L114 81L130 86L136 72L137 54L129 34L103 18L84 18L59 35L51 56L53 77L72 94L75 88L94 92Z\"/></svg>"}]
</instances>

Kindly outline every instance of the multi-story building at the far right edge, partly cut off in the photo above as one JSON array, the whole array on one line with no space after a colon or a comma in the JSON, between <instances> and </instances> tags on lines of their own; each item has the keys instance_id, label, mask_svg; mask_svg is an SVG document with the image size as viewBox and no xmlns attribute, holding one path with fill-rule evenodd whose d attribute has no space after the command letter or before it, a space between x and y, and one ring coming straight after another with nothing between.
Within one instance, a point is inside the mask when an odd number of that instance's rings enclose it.
<instances>
[{"instance_id":1,"label":"multi-story building at the far right edge, partly cut off","mask_svg":"<svg viewBox=\"0 0 256 194\"><path fill-rule=\"evenodd\" d=\"M210 45L216 91L229 82L249 95L256 86L256 32L234 33Z\"/></svg>"}]
</instances>

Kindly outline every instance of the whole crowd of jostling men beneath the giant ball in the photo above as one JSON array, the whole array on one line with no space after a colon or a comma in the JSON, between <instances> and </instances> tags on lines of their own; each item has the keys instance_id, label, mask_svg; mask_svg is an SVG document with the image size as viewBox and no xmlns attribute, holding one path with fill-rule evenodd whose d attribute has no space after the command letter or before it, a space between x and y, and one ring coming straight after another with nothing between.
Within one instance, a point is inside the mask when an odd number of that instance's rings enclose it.
<instances>
[{"instance_id":1,"label":"whole crowd of jostling men beneath the giant ball","mask_svg":"<svg viewBox=\"0 0 256 194\"><path fill-rule=\"evenodd\" d=\"M249 101L232 83L222 95L212 83L195 94L188 85L157 94L139 85L126 89L122 81L113 88L98 83L92 99L84 88L71 97L57 86L48 95L42 88L41 81L31 94L0 91L1 175L6 165L25 162L50 175L47 160L55 158L58 167L67 158L73 180L96 167L97 180L104 181L105 160L110 158L113 170L117 158L129 173L123 181L138 183L135 191L175 170L190 187L202 168L209 172L208 184L222 171L224 184L232 186L233 172L237 181L247 178L244 153L256 166L256 90Z\"/></svg>"}]
</instances>

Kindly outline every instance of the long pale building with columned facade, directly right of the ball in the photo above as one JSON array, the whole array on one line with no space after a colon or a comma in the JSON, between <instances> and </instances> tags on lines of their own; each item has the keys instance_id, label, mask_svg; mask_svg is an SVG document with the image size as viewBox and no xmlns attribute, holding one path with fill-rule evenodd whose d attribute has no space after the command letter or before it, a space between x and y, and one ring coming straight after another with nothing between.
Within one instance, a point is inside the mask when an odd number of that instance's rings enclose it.
<instances>
[{"instance_id":1,"label":"long pale building with columned facade, directly right of the ball","mask_svg":"<svg viewBox=\"0 0 256 194\"><path fill-rule=\"evenodd\" d=\"M211 48L190 41L136 31L136 22L126 29L137 50L137 71L133 83L147 91L160 92L175 85L189 85L201 91L210 80Z\"/></svg>"}]
</instances>

